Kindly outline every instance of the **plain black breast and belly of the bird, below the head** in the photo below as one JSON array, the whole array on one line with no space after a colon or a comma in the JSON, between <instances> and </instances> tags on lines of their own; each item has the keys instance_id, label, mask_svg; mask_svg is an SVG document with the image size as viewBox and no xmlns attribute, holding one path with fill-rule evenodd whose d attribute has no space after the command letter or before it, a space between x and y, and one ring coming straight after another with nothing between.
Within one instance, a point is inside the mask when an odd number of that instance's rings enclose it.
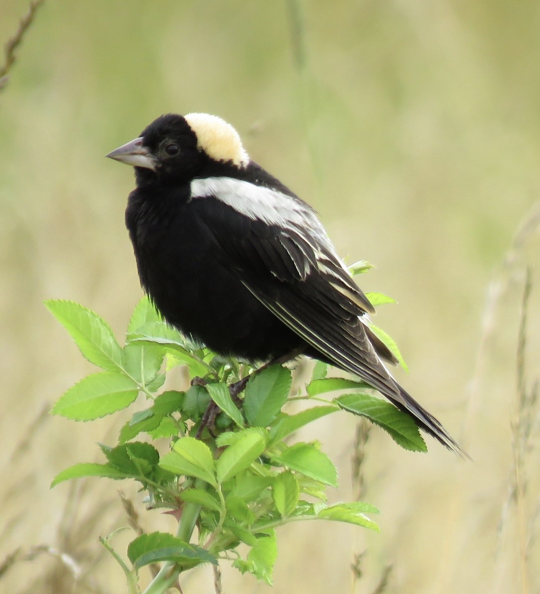
<instances>
[{"instance_id":1,"label":"plain black breast and belly of the bird, below the head","mask_svg":"<svg viewBox=\"0 0 540 594\"><path fill-rule=\"evenodd\" d=\"M188 186L160 195L137 189L126 210L141 285L165 320L220 354L250 361L301 346L242 284L189 196Z\"/></svg>"}]
</instances>

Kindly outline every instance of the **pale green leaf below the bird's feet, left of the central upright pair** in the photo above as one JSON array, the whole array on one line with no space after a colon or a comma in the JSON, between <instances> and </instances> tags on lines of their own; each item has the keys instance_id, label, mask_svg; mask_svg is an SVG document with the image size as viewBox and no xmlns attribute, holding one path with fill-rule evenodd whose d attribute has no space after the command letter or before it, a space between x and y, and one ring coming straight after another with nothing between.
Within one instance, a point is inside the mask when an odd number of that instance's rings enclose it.
<instances>
[{"instance_id":1,"label":"pale green leaf below the bird's feet, left of the central upright pair","mask_svg":"<svg viewBox=\"0 0 540 594\"><path fill-rule=\"evenodd\" d=\"M163 456L159 465L177 475L195 476L216 485L210 448L194 437L182 437L176 441L173 451Z\"/></svg>"}]
</instances>

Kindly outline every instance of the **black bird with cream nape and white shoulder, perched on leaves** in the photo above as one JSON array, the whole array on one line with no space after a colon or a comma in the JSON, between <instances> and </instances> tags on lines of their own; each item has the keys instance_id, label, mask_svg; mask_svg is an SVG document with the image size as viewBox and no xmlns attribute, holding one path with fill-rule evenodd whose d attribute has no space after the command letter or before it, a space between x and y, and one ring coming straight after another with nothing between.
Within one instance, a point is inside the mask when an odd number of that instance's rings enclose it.
<instances>
[{"instance_id":1,"label":"black bird with cream nape and white shoulder, perched on leaves","mask_svg":"<svg viewBox=\"0 0 540 594\"><path fill-rule=\"evenodd\" d=\"M251 160L232 125L166 113L106 156L134 167L125 224L166 323L220 355L334 365L463 454L390 374L397 360L370 328L375 309L315 210Z\"/></svg>"}]
</instances>

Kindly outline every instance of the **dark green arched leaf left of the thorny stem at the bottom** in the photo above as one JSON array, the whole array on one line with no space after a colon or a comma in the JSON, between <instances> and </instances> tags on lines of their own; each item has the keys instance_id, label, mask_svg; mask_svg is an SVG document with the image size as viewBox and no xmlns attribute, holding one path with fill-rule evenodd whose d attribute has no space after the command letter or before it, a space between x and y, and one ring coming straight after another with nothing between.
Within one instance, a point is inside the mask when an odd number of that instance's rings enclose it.
<instances>
[{"instance_id":1,"label":"dark green arched leaf left of the thorny stem at the bottom","mask_svg":"<svg viewBox=\"0 0 540 594\"><path fill-rule=\"evenodd\" d=\"M128 557L139 568L157 561L173 561L188 567L201 563L217 565L217 559L206 549L190 545L168 532L143 534L130 542Z\"/></svg>"}]
</instances>

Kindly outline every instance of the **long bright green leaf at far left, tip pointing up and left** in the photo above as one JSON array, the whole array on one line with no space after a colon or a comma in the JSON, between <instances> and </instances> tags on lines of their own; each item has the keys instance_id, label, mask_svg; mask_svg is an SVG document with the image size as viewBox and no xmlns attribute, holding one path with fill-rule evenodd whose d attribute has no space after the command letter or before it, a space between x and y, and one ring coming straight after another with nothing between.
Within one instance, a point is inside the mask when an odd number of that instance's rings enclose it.
<instances>
[{"instance_id":1,"label":"long bright green leaf at far left, tip pointing up and left","mask_svg":"<svg viewBox=\"0 0 540 594\"><path fill-rule=\"evenodd\" d=\"M50 299L45 306L68 331L84 358L106 371L122 366L122 349L102 318L74 301Z\"/></svg>"}]
</instances>

